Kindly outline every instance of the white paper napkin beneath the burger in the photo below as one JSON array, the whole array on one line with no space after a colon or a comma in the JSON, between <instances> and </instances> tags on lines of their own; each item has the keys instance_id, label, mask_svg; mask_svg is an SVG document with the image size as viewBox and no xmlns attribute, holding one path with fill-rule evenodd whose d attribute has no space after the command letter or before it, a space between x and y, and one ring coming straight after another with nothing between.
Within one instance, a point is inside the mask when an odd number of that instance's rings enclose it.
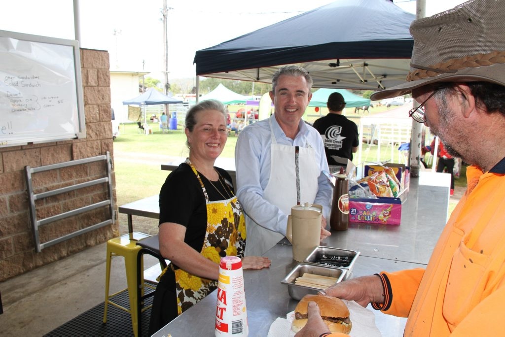
<instances>
[{"instance_id":1,"label":"white paper napkin beneath the burger","mask_svg":"<svg viewBox=\"0 0 505 337\"><path fill-rule=\"evenodd\" d=\"M367 308L363 308L355 301L342 300L349 308L349 318L352 322L350 335L352 337L380 337L381 333L375 325L375 315ZM268 337L293 337L291 323L294 319L294 311L286 315L286 318L278 317L268 330Z\"/></svg>"}]
</instances>

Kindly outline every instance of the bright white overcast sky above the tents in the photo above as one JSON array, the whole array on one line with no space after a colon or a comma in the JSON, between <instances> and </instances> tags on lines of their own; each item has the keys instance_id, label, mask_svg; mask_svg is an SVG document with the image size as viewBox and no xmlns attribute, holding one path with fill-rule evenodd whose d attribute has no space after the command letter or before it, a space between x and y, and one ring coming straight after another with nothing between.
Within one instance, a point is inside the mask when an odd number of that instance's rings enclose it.
<instances>
[{"instance_id":1,"label":"bright white overcast sky above the tents","mask_svg":"<svg viewBox=\"0 0 505 337\"><path fill-rule=\"evenodd\" d=\"M377 0L381 1L381 0ZM193 77L196 50L211 47L333 0L167 0L169 79ZM415 13L414 0L395 0ZM427 15L463 0L426 0ZM163 79L163 0L80 0L81 47L110 52L111 70ZM75 39L71 0L0 1L0 30Z\"/></svg>"}]
</instances>

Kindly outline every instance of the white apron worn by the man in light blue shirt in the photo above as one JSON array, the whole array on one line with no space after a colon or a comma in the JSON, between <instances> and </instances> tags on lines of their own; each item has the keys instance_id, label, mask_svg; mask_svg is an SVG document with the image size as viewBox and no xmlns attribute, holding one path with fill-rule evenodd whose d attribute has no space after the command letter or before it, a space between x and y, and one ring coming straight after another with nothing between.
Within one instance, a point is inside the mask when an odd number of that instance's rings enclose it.
<instances>
[{"instance_id":1,"label":"white apron worn by the man in light blue shirt","mask_svg":"<svg viewBox=\"0 0 505 337\"><path fill-rule=\"evenodd\" d=\"M297 146L277 144L270 120L269 123L272 137L270 146L272 164L270 165L270 178L265 191L263 191L263 197L271 204L279 207L286 215L289 215L291 214L291 207L297 203L295 165L295 149ZM305 202L313 203L316 199L317 179L320 174L314 149L309 144L306 146L298 147L301 204ZM282 234L260 226L247 215L245 216L245 225L247 229L246 256L261 256L284 238ZM287 222L283 226L285 228Z\"/></svg>"}]
</instances>

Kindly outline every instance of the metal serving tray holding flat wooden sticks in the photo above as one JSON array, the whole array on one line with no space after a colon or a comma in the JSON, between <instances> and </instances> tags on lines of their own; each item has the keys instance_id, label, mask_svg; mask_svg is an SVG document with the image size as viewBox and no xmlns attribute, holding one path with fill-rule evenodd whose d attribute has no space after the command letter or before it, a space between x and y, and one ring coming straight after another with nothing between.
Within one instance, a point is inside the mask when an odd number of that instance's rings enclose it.
<instances>
[{"instance_id":1,"label":"metal serving tray holding flat wooden sticks","mask_svg":"<svg viewBox=\"0 0 505 337\"><path fill-rule=\"evenodd\" d=\"M298 301L307 294L315 295L317 292L322 290L318 288L300 286L294 283L295 279L298 276L302 276L305 272L316 275L335 277L337 278L336 283L339 283L344 278L347 270L335 267L327 267L323 265L316 265L313 263L298 263L293 268L293 270L291 270L289 274L287 274L287 276L284 277L284 279L281 281L283 285L287 285L289 296Z\"/></svg>"}]
</instances>

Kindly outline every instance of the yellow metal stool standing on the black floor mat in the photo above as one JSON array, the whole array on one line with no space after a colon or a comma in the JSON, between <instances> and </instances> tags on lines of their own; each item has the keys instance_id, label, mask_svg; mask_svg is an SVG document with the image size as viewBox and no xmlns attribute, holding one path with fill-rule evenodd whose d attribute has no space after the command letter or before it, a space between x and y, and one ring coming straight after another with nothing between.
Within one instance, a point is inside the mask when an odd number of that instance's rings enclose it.
<instances>
[{"instance_id":1,"label":"yellow metal stool standing on the black floor mat","mask_svg":"<svg viewBox=\"0 0 505 337\"><path fill-rule=\"evenodd\" d=\"M138 315L137 315L137 254L142 248L137 246L137 241L150 237L148 234L140 232L132 232L125 234L118 238L111 239L107 241L107 266L106 266L106 276L105 276L105 306L104 306L104 323L107 323L107 307L109 304L114 305L122 310L125 310L131 315L131 324L133 328L133 333L137 337L137 327L138 327ZM110 300L111 297L121 293L119 291L112 295L109 295L109 284L111 276L111 259L113 255L123 256L125 259L125 270L126 270L126 282L128 285L128 298L130 299L130 308L125 308L117 303ZM142 270L143 266L140 265ZM143 277L140 278L143 286ZM143 289L141 287L140 289Z\"/></svg>"}]
</instances>

